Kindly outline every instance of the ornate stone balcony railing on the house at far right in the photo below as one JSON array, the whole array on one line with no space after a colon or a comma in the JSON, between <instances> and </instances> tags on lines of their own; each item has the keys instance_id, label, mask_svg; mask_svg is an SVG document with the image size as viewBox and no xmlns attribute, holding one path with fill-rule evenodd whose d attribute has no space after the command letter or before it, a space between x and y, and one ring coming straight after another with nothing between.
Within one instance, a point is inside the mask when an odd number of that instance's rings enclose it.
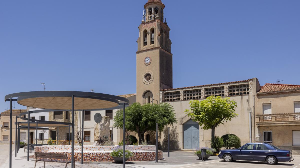
<instances>
[{"instance_id":1,"label":"ornate stone balcony railing on the house at far right","mask_svg":"<svg viewBox=\"0 0 300 168\"><path fill-rule=\"evenodd\" d=\"M258 122L300 121L300 113L258 114L255 117Z\"/></svg>"}]
</instances>

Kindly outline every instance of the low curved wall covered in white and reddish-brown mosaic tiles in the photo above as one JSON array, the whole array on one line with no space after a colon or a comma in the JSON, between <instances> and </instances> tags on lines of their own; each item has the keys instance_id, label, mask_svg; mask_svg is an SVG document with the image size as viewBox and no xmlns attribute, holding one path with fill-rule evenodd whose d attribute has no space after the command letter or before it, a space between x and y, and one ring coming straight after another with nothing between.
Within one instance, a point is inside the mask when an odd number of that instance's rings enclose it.
<instances>
[{"instance_id":1,"label":"low curved wall covered in white and reddish-brown mosaic tiles","mask_svg":"<svg viewBox=\"0 0 300 168\"><path fill-rule=\"evenodd\" d=\"M86 162L113 162L110 152L116 146L83 146L83 161ZM133 156L128 161L154 161L155 146L126 146ZM71 146L36 146L35 152L66 153L71 160ZM75 161L81 161L81 146L74 146ZM163 159L163 151L158 151L158 159Z\"/></svg>"}]
</instances>

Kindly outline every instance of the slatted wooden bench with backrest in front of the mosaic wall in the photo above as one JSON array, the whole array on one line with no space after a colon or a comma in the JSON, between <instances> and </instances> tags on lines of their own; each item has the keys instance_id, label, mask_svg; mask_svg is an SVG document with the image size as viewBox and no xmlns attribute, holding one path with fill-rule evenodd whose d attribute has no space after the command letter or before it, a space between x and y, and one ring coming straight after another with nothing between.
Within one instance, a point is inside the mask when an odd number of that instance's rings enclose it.
<instances>
[{"instance_id":1,"label":"slatted wooden bench with backrest in front of the mosaic wall","mask_svg":"<svg viewBox=\"0 0 300 168\"><path fill-rule=\"evenodd\" d=\"M38 158L42 158L42 159L38 159ZM57 160L57 159L59 159L59 160ZM43 161L44 167L46 167L46 162L66 163L65 168L67 168L67 164L71 163L71 161L68 161L67 154L64 154L64 153L35 152L35 166L38 161ZM74 168L75 168L75 162L74 162Z\"/></svg>"}]
</instances>

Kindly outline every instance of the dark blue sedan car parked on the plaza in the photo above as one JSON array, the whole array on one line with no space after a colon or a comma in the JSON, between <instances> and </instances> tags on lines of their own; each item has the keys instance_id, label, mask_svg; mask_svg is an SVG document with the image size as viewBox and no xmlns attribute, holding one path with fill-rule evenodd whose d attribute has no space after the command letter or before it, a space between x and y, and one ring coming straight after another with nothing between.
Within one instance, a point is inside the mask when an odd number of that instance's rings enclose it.
<instances>
[{"instance_id":1,"label":"dark blue sedan car parked on the plaza","mask_svg":"<svg viewBox=\"0 0 300 168\"><path fill-rule=\"evenodd\" d=\"M221 150L218 157L225 162L243 160L262 161L268 164L294 160L291 150L280 149L271 143L246 143L238 149Z\"/></svg>"}]
</instances>

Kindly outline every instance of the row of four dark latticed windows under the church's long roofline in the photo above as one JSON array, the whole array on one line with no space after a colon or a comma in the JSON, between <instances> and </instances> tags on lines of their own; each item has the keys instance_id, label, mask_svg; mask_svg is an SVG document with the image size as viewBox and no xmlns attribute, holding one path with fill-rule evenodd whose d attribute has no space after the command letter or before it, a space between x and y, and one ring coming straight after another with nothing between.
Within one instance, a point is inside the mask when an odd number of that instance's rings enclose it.
<instances>
[{"instance_id":1,"label":"row of four dark latticed windows under the church's long roofline","mask_svg":"<svg viewBox=\"0 0 300 168\"><path fill-rule=\"evenodd\" d=\"M228 96L248 95L249 84L228 86ZM225 96L225 87L205 88L202 97L202 89L183 91L183 100L203 99L210 96ZM164 102L180 101L180 91L164 93Z\"/></svg>"}]
</instances>

